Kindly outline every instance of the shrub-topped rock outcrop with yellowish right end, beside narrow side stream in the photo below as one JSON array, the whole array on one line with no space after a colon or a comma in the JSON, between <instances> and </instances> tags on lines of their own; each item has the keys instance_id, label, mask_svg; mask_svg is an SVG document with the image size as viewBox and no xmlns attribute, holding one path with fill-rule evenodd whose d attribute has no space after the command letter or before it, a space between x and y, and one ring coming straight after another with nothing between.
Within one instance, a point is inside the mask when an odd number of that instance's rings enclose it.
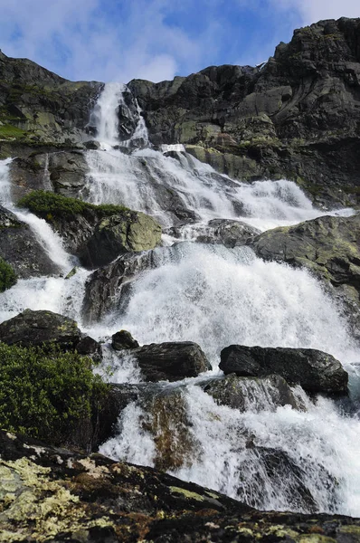
<instances>
[{"instance_id":1,"label":"shrub-topped rock outcrop with yellowish right end, beside narrow side stream","mask_svg":"<svg viewBox=\"0 0 360 543\"><path fill-rule=\"evenodd\" d=\"M19 205L51 224L88 268L126 252L153 249L161 241L161 226L152 217L123 205L93 205L43 190L25 195Z\"/></svg>"}]
</instances>

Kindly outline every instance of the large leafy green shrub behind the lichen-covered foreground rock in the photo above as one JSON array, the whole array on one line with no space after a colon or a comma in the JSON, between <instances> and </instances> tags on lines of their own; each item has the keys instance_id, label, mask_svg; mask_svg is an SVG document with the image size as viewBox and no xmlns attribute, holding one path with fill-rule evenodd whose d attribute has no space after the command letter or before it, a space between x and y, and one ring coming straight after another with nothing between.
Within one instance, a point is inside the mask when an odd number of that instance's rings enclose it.
<instances>
[{"instance_id":1,"label":"large leafy green shrub behind the lichen-covered foreground rock","mask_svg":"<svg viewBox=\"0 0 360 543\"><path fill-rule=\"evenodd\" d=\"M92 373L93 362L57 348L0 343L0 427L67 443L99 413L108 385Z\"/></svg>"}]
</instances>

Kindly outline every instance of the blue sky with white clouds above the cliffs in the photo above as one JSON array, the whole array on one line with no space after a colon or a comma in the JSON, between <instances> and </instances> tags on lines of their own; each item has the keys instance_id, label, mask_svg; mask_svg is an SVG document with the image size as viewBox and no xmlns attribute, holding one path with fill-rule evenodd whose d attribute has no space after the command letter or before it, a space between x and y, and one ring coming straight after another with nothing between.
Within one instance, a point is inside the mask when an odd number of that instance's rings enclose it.
<instances>
[{"instance_id":1,"label":"blue sky with white clouds above the cliffs","mask_svg":"<svg viewBox=\"0 0 360 543\"><path fill-rule=\"evenodd\" d=\"M0 0L0 49L72 81L171 80L266 61L295 28L360 0Z\"/></svg>"}]
</instances>

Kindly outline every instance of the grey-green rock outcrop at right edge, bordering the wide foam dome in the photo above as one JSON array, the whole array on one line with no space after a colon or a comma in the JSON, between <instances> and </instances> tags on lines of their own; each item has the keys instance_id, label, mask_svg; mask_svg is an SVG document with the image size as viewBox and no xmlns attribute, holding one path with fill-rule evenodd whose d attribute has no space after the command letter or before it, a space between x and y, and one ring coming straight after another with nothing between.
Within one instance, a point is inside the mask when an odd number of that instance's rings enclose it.
<instances>
[{"instance_id":1,"label":"grey-green rock outcrop at right edge, bordering the wide foam dome","mask_svg":"<svg viewBox=\"0 0 360 543\"><path fill-rule=\"evenodd\" d=\"M250 243L264 260L304 266L315 273L346 304L346 313L358 336L360 322L360 214L319 217L274 228Z\"/></svg>"}]
</instances>

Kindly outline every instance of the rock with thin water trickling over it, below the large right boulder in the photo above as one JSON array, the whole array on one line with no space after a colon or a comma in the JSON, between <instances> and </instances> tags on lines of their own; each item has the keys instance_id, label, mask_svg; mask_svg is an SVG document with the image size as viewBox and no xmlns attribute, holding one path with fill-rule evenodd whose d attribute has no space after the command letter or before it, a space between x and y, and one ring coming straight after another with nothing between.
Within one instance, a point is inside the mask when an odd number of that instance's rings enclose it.
<instances>
[{"instance_id":1,"label":"rock with thin water trickling over it, below the large right boulder","mask_svg":"<svg viewBox=\"0 0 360 543\"><path fill-rule=\"evenodd\" d=\"M217 404L229 405L239 411L275 411L282 405L303 410L301 400L293 394L281 376L239 377L234 374L222 379L211 379L200 385L204 392L213 396Z\"/></svg>"}]
</instances>

